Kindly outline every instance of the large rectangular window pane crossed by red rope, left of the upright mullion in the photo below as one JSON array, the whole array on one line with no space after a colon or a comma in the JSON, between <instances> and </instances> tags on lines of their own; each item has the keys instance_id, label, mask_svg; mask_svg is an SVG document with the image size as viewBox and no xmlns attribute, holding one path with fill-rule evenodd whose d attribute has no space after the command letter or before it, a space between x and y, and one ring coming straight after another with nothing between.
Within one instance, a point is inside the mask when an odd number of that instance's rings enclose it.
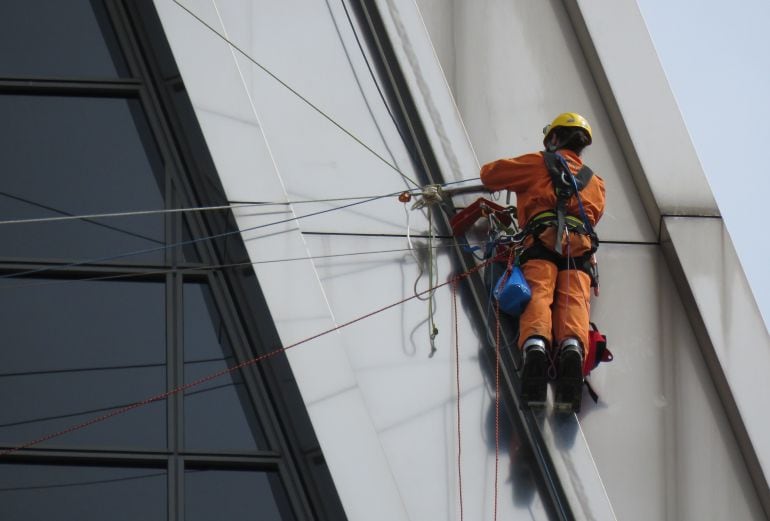
<instances>
[{"instance_id":1,"label":"large rectangular window pane crossed by red rope, left of the upright mullion","mask_svg":"<svg viewBox=\"0 0 770 521\"><path fill-rule=\"evenodd\" d=\"M164 288L0 279L0 443L35 440L164 392ZM48 443L165 447L165 402Z\"/></svg>"}]
</instances>

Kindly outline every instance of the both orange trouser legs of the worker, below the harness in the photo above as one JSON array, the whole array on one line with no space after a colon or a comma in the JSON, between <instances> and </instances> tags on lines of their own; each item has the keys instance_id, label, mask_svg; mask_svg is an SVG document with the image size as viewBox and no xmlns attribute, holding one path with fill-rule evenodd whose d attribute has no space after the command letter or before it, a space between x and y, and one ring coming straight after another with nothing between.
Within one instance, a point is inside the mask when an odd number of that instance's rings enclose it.
<instances>
[{"instance_id":1,"label":"both orange trouser legs of the worker, below the harness","mask_svg":"<svg viewBox=\"0 0 770 521\"><path fill-rule=\"evenodd\" d=\"M532 300L519 317L519 346L531 336L553 340L554 346L574 337L583 344L586 360L591 277L580 270L559 271L554 263L543 259L528 260L521 269Z\"/></svg>"}]
</instances>

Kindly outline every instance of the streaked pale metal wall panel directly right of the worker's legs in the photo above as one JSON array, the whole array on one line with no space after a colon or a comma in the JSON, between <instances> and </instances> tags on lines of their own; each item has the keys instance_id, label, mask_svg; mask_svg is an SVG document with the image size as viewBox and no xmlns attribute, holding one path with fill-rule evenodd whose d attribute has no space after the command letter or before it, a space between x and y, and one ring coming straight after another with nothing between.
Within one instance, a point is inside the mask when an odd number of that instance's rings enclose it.
<instances>
[{"instance_id":1,"label":"streaked pale metal wall panel directly right of the worker's legs","mask_svg":"<svg viewBox=\"0 0 770 521\"><path fill-rule=\"evenodd\" d=\"M618 519L763 519L660 249L604 245L602 260L592 314L616 359L580 418Z\"/></svg>"}]
</instances>

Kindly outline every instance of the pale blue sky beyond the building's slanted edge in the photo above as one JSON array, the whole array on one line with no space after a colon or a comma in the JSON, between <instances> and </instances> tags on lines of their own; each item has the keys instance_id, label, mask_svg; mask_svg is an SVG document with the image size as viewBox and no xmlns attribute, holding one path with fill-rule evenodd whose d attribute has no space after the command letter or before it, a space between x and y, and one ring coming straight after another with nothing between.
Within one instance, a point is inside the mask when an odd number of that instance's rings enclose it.
<instances>
[{"instance_id":1,"label":"pale blue sky beyond the building's slanted edge","mask_svg":"<svg viewBox=\"0 0 770 521\"><path fill-rule=\"evenodd\" d=\"M770 329L770 0L637 0Z\"/></svg>"}]
</instances>

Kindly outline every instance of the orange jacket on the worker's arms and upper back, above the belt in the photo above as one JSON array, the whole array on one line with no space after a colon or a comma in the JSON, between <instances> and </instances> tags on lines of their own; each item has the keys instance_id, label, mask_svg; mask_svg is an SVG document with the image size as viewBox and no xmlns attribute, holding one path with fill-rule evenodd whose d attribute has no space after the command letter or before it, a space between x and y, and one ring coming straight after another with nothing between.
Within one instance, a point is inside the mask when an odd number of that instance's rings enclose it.
<instances>
[{"instance_id":1,"label":"orange jacket on the worker's arms and upper back, above the belt","mask_svg":"<svg viewBox=\"0 0 770 521\"><path fill-rule=\"evenodd\" d=\"M580 156L571 150L559 150L567 160L572 174L575 175L583 166ZM551 184L551 176L545 167L543 153L524 154L512 159L498 159L481 167L481 182L492 191L511 190L516 192L519 226L525 226L540 212L556 208L556 194ZM604 213L604 181L594 175L580 191L588 220L595 225ZM567 213L580 217L577 198L570 198Z\"/></svg>"}]
</instances>

